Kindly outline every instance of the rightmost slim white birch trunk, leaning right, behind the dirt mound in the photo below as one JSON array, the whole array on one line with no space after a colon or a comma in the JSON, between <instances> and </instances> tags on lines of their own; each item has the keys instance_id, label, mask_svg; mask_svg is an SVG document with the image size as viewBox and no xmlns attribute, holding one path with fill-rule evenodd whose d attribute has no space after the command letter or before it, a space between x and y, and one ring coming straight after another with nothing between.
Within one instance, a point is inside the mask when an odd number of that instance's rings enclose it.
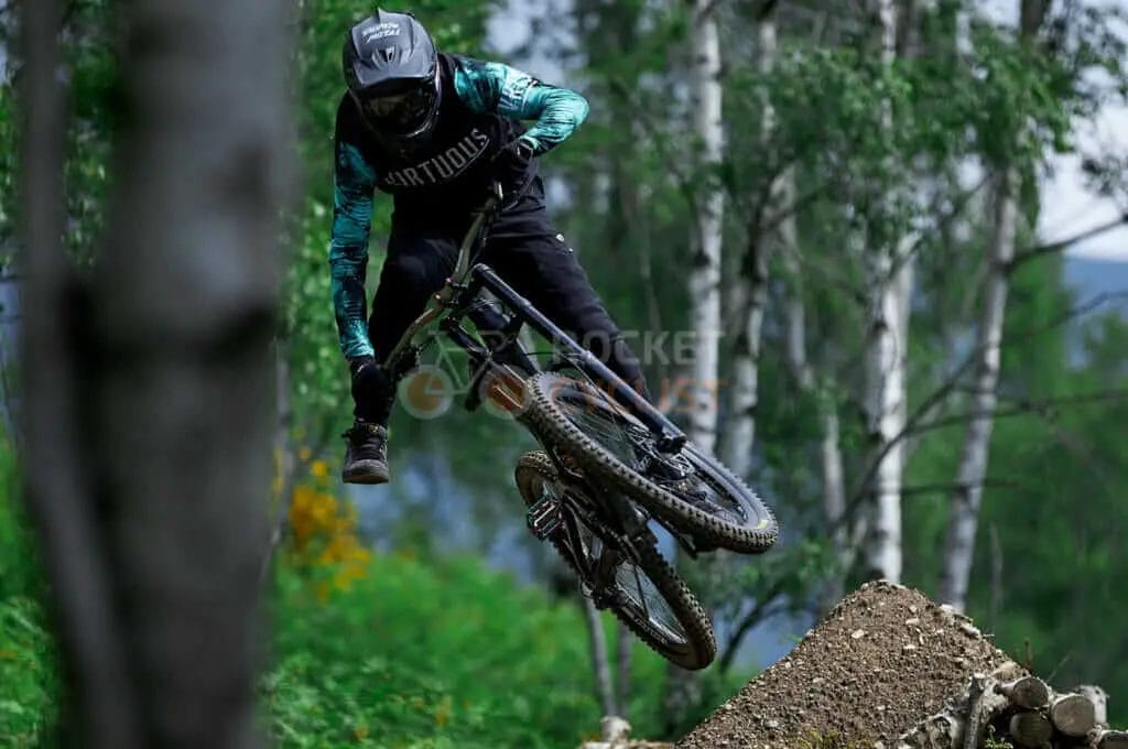
<instances>
[{"instance_id":1,"label":"rightmost slim white birch trunk, leaning right, behind the dirt mound","mask_svg":"<svg viewBox=\"0 0 1128 749\"><path fill-rule=\"evenodd\" d=\"M1020 35L1023 43L1032 43L1046 20L1049 8L1050 3L1047 0L1021 0ZM1014 258L1017 233L1020 180L1020 171L1012 164L1004 162L993 168L990 197L993 230L990 246L987 247L989 265L976 338L972 417L964 431L955 492L952 494L949 508L940 582L941 600L951 603L958 610L963 610L967 606L984 479L987 477L990 456L1010 265Z\"/></svg>"}]
</instances>

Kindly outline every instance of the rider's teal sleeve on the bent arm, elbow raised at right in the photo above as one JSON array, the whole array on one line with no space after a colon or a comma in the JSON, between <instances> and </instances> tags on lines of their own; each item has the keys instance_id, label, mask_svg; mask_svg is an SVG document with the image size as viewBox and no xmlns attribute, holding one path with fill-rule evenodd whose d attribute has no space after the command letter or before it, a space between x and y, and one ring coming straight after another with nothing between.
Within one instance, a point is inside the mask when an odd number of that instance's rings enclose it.
<instances>
[{"instance_id":1,"label":"rider's teal sleeve on the bent arm, elbow raised at right","mask_svg":"<svg viewBox=\"0 0 1128 749\"><path fill-rule=\"evenodd\" d=\"M473 111L535 120L521 135L537 156L565 140L588 117L588 100L500 62L456 58L455 90Z\"/></svg>"}]
</instances>

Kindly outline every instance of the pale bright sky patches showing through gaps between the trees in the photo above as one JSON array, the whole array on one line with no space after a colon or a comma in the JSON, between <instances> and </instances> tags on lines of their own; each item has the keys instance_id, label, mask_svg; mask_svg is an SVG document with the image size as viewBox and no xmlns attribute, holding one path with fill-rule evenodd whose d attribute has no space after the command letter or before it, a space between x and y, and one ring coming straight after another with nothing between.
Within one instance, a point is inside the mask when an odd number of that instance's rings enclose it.
<instances>
[{"instance_id":1,"label":"pale bright sky patches showing through gaps between the trees","mask_svg":"<svg viewBox=\"0 0 1128 749\"><path fill-rule=\"evenodd\" d=\"M559 0L556 0L559 2ZM981 0L985 11L1002 23L1016 24L1019 0ZM519 46L529 34L529 20L543 12L545 0L510 0L505 12L491 23L490 41L494 49L505 53ZM1128 11L1128 0L1090 0L1086 5L1119 7ZM525 61L535 65L537 74L566 80L554 62L545 59ZM1128 151L1128 107L1104 106L1095 122L1086 123L1077 136L1081 152L1102 148ZM1093 195L1086 190L1081 173L1079 156L1060 156L1050 160L1051 177L1042 184L1042 212L1038 233L1043 241L1056 241L1084 232L1086 229L1109 223L1128 211L1113 200ZM1068 253L1074 257L1128 263L1128 228L1105 232L1078 243Z\"/></svg>"}]
</instances>

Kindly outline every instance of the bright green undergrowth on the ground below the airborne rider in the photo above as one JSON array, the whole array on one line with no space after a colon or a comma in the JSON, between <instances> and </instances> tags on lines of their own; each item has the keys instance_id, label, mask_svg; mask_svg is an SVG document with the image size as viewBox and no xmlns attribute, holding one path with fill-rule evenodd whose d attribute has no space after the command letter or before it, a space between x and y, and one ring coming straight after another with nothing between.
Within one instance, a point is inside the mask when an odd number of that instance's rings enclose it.
<instances>
[{"instance_id":1,"label":"bright green undergrowth on the ground below the airborne rider","mask_svg":"<svg viewBox=\"0 0 1128 749\"><path fill-rule=\"evenodd\" d=\"M598 730L579 609L477 559L377 557L328 603L283 570L271 608L262 703L280 746L571 748ZM638 735L663 668L637 646Z\"/></svg>"}]
</instances>

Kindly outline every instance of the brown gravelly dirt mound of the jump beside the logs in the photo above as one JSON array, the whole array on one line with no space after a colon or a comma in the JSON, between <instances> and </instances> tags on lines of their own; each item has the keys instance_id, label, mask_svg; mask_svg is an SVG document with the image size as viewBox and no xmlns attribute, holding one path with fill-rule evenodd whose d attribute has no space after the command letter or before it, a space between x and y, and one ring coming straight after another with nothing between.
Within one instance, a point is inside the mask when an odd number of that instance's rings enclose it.
<instances>
[{"instance_id":1,"label":"brown gravelly dirt mound of the jump beside the logs","mask_svg":"<svg viewBox=\"0 0 1128 749\"><path fill-rule=\"evenodd\" d=\"M967 618L923 593L870 583L677 746L803 749L888 742L963 690L969 675L1008 660Z\"/></svg>"}]
</instances>

